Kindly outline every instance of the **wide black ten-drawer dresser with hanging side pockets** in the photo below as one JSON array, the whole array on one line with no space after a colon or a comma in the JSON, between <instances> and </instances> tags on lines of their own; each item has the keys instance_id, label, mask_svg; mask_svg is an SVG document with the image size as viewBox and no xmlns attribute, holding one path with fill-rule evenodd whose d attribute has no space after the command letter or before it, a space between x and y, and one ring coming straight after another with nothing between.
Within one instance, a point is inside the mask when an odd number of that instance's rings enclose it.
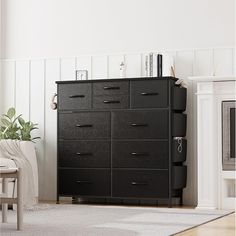
<instances>
[{"instance_id":1,"label":"wide black ten-drawer dresser with hanging side pockets","mask_svg":"<svg viewBox=\"0 0 236 236\"><path fill-rule=\"evenodd\" d=\"M59 196L180 198L186 89L176 78L58 81Z\"/></svg>"}]
</instances>

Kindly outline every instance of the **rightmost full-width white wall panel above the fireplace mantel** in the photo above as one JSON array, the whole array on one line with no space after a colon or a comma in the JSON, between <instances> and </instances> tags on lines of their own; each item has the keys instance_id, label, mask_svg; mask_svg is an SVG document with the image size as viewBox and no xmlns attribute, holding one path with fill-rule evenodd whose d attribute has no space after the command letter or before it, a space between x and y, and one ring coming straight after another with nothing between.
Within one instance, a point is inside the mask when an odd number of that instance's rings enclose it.
<instances>
[{"instance_id":1,"label":"rightmost full-width white wall panel above the fireplace mantel","mask_svg":"<svg viewBox=\"0 0 236 236\"><path fill-rule=\"evenodd\" d=\"M233 49L214 49L214 75L233 75Z\"/></svg>"}]
</instances>

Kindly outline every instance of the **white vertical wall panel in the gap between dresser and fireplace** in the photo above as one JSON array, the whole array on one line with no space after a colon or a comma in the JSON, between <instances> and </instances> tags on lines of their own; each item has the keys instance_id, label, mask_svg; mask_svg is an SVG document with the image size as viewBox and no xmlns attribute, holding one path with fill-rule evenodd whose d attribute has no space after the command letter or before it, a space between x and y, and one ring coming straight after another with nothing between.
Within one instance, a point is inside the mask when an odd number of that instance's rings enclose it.
<instances>
[{"instance_id":1,"label":"white vertical wall panel in the gap between dresser and fireplace","mask_svg":"<svg viewBox=\"0 0 236 236\"><path fill-rule=\"evenodd\" d=\"M180 51L176 53L175 72L176 77L183 79L187 85L187 187L184 189L184 203L186 205L197 204L197 155L196 150L196 137L194 137L194 130L196 129L194 123L195 111L194 103L196 102L194 85L192 81L188 80L189 76L193 75L194 67L194 52L193 51Z\"/></svg>"}]
</instances>

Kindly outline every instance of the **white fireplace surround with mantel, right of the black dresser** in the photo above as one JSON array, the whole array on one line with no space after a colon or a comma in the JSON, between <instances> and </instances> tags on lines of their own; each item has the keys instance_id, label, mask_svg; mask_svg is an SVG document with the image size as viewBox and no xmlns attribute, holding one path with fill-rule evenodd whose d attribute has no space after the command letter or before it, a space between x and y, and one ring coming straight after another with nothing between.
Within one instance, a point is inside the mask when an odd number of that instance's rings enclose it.
<instances>
[{"instance_id":1,"label":"white fireplace surround with mantel, right of the black dresser","mask_svg":"<svg viewBox=\"0 0 236 236\"><path fill-rule=\"evenodd\" d=\"M236 77L190 77L197 83L198 204L235 208L235 171L222 170L222 101L236 100Z\"/></svg>"}]
</instances>

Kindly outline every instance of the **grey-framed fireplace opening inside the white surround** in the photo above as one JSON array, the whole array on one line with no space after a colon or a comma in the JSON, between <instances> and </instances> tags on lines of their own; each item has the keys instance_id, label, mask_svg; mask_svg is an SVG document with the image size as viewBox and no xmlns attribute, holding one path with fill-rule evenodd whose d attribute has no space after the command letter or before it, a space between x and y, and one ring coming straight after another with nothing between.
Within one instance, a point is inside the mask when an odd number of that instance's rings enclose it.
<instances>
[{"instance_id":1,"label":"grey-framed fireplace opening inside the white surround","mask_svg":"<svg viewBox=\"0 0 236 236\"><path fill-rule=\"evenodd\" d=\"M235 170L236 101L222 102L222 164L223 170Z\"/></svg>"}]
</instances>

